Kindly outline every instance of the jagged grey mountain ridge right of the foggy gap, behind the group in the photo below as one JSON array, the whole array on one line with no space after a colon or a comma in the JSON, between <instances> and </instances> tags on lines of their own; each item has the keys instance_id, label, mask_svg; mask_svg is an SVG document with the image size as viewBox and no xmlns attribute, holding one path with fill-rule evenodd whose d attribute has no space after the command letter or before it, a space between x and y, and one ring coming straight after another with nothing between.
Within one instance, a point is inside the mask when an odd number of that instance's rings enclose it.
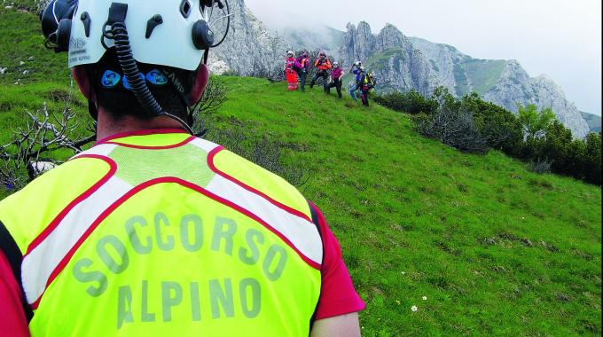
<instances>
[{"instance_id":1,"label":"jagged grey mountain ridge right of the foggy gap, behind the group","mask_svg":"<svg viewBox=\"0 0 603 337\"><path fill-rule=\"evenodd\" d=\"M473 59L450 45L407 37L391 24L378 35L364 21L347 28L340 53L348 62L368 61L379 75L378 90L414 89L430 94L443 85L458 97L474 91L513 112L518 104L552 107L574 137L589 132L558 84L544 75L530 77L516 60Z\"/></svg>"}]
</instances>

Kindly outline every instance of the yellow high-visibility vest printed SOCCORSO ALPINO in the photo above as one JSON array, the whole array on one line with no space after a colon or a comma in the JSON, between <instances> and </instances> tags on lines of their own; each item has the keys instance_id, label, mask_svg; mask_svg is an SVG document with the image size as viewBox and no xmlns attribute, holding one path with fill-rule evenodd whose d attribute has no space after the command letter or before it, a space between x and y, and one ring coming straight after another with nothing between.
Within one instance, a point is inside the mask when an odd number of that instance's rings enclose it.
<instances>
[{"instance_id":1,"label":"yellow high-visibility vest printed SOCCORSO ALPINO","mask_svg":"<svg viewBox=\"0 0 603 337\"><path fill-rule=\"evenodd\" d=\"M33 336L307 336L323 247L307 200L200 138L92 147L0 202Z\"/></svg>"}]
</instances>

